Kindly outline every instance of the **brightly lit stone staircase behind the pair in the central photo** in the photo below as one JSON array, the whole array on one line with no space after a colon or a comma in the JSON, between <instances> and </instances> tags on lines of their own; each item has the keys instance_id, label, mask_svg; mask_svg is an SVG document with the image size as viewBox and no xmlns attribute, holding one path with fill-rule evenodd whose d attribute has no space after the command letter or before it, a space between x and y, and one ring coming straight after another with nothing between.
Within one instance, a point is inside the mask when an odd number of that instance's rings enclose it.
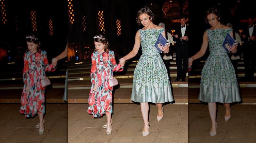
<instances>
[{"instance_id":1,"label":"brightly lit stone staircase behind the pair in the central photo","mask_svg":"<svg viewBox=\"0 0 256 143\"><path fill-rule=\"evenodd\" d=\"M188 74L186 82L175 81L177 68L175 61L170 61L170 77L173 87L174 104L188 103ZM116 60L118 61L118 57ZM134 103L131 101L133 72L137 65L137 59L127 60L123 71L114 72L114 77L118 80L118 85L113 89L114 103ZM91 89L91 60L77 60L68 62L68 103L88 103Z\"/></svg>"}]
</instances>

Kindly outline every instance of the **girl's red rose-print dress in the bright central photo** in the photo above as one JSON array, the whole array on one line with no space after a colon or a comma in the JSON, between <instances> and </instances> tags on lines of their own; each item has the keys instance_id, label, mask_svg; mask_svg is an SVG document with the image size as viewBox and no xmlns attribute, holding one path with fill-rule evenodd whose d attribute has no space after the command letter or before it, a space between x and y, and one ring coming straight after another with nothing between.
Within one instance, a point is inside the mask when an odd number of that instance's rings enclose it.
<instances>
[{"instance_id":1,"label":"girl's red rose-print dress in the bright central photo","mask_svg":"<svg viewBox=\"0 0 256 143\"><path fill-rule=\"evenodd\" d=\"M91 81L92 87L89 94L88 113L93 117L101 117L106 113L113 113L112 110L112 91L108 80L113 78L113 71L123 71L120 64L117 65L113 51L108 53L94 52L92 58ZM97 91L93 90L97 84Z\"/></svg>"}]
</instances>

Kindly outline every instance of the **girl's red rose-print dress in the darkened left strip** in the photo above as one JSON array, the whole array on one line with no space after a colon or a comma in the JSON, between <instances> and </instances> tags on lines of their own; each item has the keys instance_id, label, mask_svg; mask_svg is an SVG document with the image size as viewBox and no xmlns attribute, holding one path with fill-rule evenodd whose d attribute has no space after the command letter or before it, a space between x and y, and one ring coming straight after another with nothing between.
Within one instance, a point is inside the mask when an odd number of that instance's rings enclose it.
<instances>
[{"instance_id":1,"label":"girl's red rose-print dress in the darkened left strip","mask_svg":"<svg viewBox=\"0 0 256 143\"><path fill-rule=\"evenodd\" d=\"M41 79L45 78L45 71L55 71L53 64L49 64L45 51L24 54L23 81L20 113L25 117L34 117L38 113L45 113L45 87ZM29 83L29 85L28 85ZM26 91L26 86L29 91Z\"/></svg>"}]
</instances>

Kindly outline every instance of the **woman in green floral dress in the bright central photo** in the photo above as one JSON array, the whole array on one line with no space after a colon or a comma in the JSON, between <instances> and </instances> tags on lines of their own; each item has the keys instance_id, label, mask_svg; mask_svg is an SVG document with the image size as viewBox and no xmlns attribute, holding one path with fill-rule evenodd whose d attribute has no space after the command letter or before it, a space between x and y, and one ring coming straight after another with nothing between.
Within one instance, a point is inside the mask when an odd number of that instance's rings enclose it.
<instances>
[{"instance_id":1,"label":"woman in green floral dress in the bright central photo","mask_svg":"<svg viewBox=\"0 0 256 143\"><path fill-rule=\"evenodd\" d=\"M160 33L165 37L165 29L153 24L154 14L148 8L141 8L137 13L137 24L143 25L142 29L137 31L133 50L120 59L120 63L126 59L137 55L141 44L142 55L134 70L133 89L131 100L140 103L140 109L144 120L143 136L149 134L148 122L148 102L156 103L158 107L157 120L163 117L163 103L172 102L173 96L167 70L160 56L159 51L154 46ZM168 46L161 44L160 50L163 53L169 52Z\"/></svg>"}]
</instances>

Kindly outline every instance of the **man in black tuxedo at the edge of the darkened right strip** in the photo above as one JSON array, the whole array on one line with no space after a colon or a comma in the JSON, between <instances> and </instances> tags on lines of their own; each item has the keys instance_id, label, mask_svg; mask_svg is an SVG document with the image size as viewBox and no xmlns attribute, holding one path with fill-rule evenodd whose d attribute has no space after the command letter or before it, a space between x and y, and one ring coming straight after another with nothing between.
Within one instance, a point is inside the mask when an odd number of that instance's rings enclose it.
<instances>
[{"instance_id":1,"label":"man in black tuxedo at the edge of the darkened right strip","mask_svg":"<svg viewBox=\"0 0 256 143\"><path fill-rule=\"evenodd\" d=\"M242 38L244 44L244 65L245 80L253 81L253 74L256 67L256 27L253 24L253 18L249 17L248 24L243 28Z\"/></svg>"}]
</instances>

